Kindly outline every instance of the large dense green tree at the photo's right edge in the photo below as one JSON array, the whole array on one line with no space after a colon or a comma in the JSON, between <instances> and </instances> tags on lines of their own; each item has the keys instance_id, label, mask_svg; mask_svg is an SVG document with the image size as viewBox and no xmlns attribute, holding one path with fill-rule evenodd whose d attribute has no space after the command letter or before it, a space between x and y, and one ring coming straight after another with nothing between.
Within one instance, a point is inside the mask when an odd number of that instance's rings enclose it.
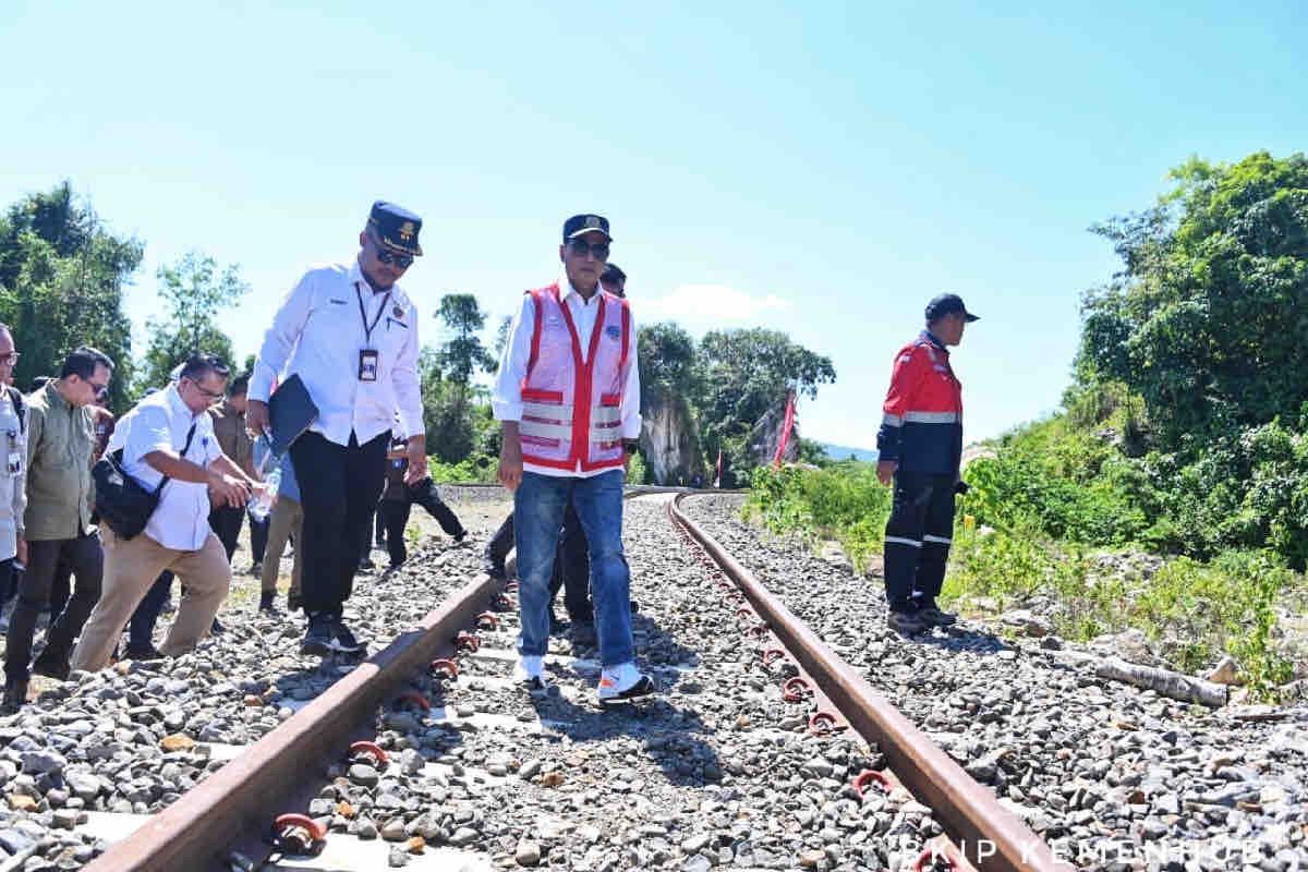
<instances>
[{"instance_id":1,"label":"large dense green tree at the photo's right edge","mask_svg":"<svg viewBox=\"0 0 1308 872\"><path fill-rule=\"evenodd\" d=\"M1086 295L1078 374L1126 384L1159 446L1193 454L1308 401L1308 158L1196 158L1171 178L1154 208L1095 227L1125 269Z\"/></svg>"}]
</instances>

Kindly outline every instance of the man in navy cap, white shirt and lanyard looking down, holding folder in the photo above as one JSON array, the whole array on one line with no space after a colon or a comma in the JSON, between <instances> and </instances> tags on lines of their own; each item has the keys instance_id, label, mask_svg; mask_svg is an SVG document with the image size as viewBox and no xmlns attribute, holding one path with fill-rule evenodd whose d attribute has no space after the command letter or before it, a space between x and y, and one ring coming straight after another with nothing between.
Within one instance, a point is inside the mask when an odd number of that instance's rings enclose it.
<instances>
[{"instance_id":1,"label":"man in navy cap, white shirt and lanyard looking down, holding folder","mask_svg":"<svg viewBox=\"0 0 1308 872\"><path fill-rule=\"evenodd\" d=\"M391 424L407 439L409 484L426 471L417 375L417 310L395 282L421 256L422 220L377 201L348 264L311 269L286 295L264 335L250 379L246 422L268 428L277 379L298 374L318 420L290 446L303 509L302 604L309 617L301 654L361 654L341 620L369 518L385 480Z\"/></svg>"}]
</instances>

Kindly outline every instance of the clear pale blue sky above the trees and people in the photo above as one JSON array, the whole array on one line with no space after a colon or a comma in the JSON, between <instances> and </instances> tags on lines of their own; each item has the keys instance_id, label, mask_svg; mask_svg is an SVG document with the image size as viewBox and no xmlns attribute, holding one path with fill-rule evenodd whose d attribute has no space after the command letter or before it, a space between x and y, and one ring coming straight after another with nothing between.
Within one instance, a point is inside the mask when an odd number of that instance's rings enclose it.
<instances>
[{"instance_id":1,"label":"clear pale blue sky above the trees and people","mask_svg":"<svg viewBox=\"0 0 1308 872\"><path fill-rule=\"evenodd\" d=\"M875 444L942 290L982 315L956 353L968 437L1052 411L1080 292L1117 268L1087 227L1192 154L1308 143L1301 1L192 5L0 17L0 203L69 179L145 242L137 348L190 248L241 264L222 327L246 353L373 199L425 218L425 312L471 292L508 314L596 210L640 320L831 356L800 424L844 444Z\"/></svg>"}]
</instances>

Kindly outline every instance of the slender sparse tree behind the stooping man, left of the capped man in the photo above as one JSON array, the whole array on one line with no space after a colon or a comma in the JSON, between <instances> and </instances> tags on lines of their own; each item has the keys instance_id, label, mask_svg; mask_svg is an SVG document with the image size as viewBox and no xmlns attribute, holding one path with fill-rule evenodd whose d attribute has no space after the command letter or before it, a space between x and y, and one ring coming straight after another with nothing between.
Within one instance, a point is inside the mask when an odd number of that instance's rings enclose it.
<instances>
[{"instance_id":1,"label":"slender sparse tree behind the stooping man, left of the capped man","mask_svg":"<svg viewBox=\"0 0 1308 872\"><path fill-rule=\"evenodd\" d=\"M173 369L194 352L216 354L235 366L232 339L218 329L215 318L250 290L237 265L218 272L213 258L191 251L175 264L160 267L158 280L166 315L146 322L150 343L140 388L167 384Z\"/></svg>"}]
</instances>

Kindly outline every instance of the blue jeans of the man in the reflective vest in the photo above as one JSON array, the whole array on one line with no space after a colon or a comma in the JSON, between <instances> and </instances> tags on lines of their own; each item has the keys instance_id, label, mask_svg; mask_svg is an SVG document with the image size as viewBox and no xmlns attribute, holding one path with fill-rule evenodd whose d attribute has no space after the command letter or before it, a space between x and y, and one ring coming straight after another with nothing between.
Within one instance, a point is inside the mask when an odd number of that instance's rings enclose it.
<instances>
[{"instance_id":1,"label":"blue jeans of the man in the reflective vest","mask_svg":"<svg viewBox=\"0 0 1308 872\"><path fill-rule=\"evenodd\" d=\"M632 642L632 574L623 553L621 469L590 478L559 478L525 472L513 499L518 548L518 654L544 656L549 642L549 577L564 510L572 499L586 532L590 588L595 604L599 659L615 667L636 659Z\"/></svg>"}]
</instances>

